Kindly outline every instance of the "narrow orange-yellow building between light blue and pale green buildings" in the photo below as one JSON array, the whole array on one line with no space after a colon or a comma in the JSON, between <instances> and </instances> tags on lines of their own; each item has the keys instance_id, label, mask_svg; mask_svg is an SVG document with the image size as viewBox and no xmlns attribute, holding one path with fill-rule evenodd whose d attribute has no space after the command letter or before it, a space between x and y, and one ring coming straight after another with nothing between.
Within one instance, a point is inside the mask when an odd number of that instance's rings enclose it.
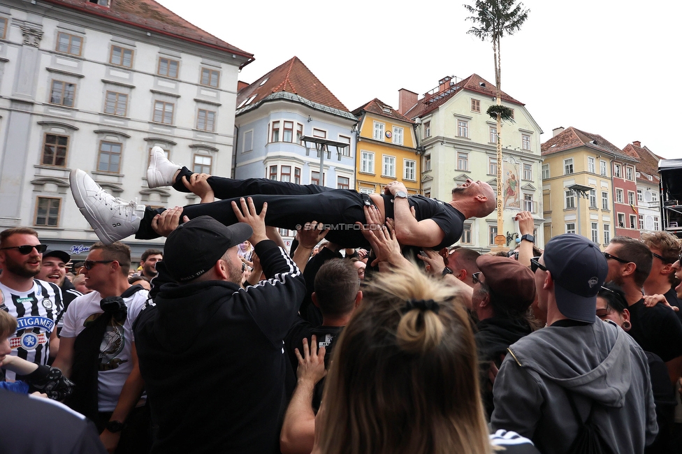
<instances>
[{"instance_id":1,"label":"narrow orange-yellow building between light blue and pale green buildings","mask_svg":"<svg viewBox=\"0 0 682 454\"><path fill-rule=\"evenodd\" d=\"M354 110L358 117L356 187L379 193L384 184L400 181L407 193L419 194L421 159L416 150L414 122L377 98Z\"/></svg>"}]
</instances>

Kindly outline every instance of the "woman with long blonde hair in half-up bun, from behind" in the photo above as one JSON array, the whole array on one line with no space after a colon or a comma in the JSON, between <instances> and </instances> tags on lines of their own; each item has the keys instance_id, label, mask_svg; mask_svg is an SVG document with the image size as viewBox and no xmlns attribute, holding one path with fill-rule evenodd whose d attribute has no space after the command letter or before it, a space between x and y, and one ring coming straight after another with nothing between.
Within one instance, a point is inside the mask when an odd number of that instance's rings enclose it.
<instances>
[{"instance_id":1,"label":"woman with long blonde hair in half-up bun, from behind","mask_svg":"<svg viewBox=\"0 0 682 454\"><path fill-rule=\"evenodd\" d=\"M537 453L514 432L488 435L454 288L406 263L375 274L363 295L333 353L313 453Z\"/></svg>"}]
</instances>

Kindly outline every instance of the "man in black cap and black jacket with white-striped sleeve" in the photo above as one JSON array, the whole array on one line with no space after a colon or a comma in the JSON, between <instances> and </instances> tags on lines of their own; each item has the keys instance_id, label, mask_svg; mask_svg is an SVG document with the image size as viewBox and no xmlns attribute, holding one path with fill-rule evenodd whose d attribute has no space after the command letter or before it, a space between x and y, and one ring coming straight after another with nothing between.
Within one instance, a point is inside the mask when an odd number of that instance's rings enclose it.
<instances>
[{"instance_id":1,"label":"man in black cap and black jacket with white-striped sleeve","mask_svg":"<svg viewBox=\"0 0 682 454\"><path fill-rule=\"evenodd\" d=\"M283 339L305 282L296 263L266 237L263 205L233 204L238 224L211 217L168 235L153 307L138 318L140 372L158 425L152 453L279 453L286 410ZM243 213L243 214L242 214ZM270 279L244 289L238 244L255 245ZM161 276L160 276L161 277Z\"/></svg>"}]
</instances>

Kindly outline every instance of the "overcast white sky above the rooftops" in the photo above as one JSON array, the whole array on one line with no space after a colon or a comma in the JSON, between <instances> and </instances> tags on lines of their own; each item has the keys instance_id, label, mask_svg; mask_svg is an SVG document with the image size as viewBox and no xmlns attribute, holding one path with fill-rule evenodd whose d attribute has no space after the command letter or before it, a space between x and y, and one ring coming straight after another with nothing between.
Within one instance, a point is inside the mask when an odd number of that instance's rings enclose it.
<instances>
[{"instance_id":1,"label":"overcast white sky above the rooftops","mask_svg":"<svg viewBox=\"0 0 682 454\"><path fill-rule=\"evenodd\" d=\"M424 94L446 75L495 82L490 43L466 33L464 0L157 1L254 54L240 80L296 55L349 110L373 98L398 108L398 89ZM523 3L528 20L502 39L502 90L525 103L542 142L574 126L682 158L682 1Z\"/></svg>"}]
</instances>

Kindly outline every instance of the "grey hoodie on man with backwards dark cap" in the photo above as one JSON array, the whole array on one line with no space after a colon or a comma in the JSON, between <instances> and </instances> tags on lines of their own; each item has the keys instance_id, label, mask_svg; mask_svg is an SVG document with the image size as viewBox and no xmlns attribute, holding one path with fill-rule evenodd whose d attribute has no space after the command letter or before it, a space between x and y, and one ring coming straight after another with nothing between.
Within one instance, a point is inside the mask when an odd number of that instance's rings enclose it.
<instances>
[{"instance_id":1,"label":"grey hoodie on man with backwards dark cap","mask_svg":"<svg viewBox=\"0 0 682 454\"><path fill-rule=\"evenodd\" d=\"M593 421L616 453L643 453L658 433L648 365L614 323L549 326L509 347L495 379L493 430L513 430L545 454L570 448L593 401Z\"/></svg>"}]
</instances>

